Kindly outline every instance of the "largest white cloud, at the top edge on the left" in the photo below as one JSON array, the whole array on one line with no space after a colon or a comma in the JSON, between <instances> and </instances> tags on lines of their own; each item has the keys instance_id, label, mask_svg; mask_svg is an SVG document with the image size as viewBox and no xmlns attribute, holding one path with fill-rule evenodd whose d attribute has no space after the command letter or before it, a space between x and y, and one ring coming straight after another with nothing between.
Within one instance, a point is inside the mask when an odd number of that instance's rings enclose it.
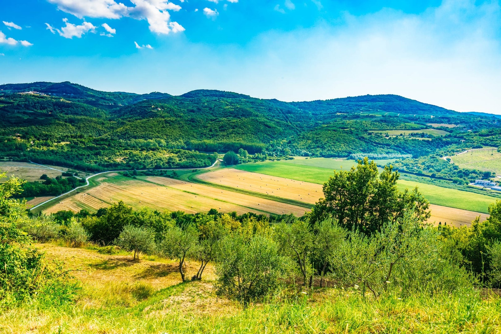
<instances>
[{"instance_id":1,"label":"largest white cloud, at the top edge on the left","mask_svg":"<svg viewBox=\"0 0 501 334\"><path fill-rule=\"evenodd\" d=\"M135 20L146 20L149 29L157 34L169 34L184 31L176 22L170 21L169 11L177 12L181 6L168 0L130 0L134 7L128 7L115 0L48 0L58 9L82 19L104 18L120 19L129 17Z\"/></svg>"}]
</instances>

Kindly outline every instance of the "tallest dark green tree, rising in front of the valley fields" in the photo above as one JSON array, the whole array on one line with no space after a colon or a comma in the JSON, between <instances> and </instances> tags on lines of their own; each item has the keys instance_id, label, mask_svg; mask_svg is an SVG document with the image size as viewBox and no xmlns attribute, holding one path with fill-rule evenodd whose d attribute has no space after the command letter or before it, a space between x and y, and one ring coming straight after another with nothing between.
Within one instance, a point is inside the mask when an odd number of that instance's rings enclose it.
<instances>
[{"instance_id":1,"label":"tallest dark green tree, rising in front of the valley fields","mask_svg":"<svg viewBox=\"0 0 501 334\"><path fill-rule=\"evenodd\" d=\"M398 191L398 178L391 166L379 174L374 161L359 160L350 171L334 172L324 184L325 198L316 203L310 220L332 217L348 230L355 227L368 235L402 217L405 207L414 207L418 219L426 221L430 217L428 201L417 188Z\"/></svg>"}]
</instances>

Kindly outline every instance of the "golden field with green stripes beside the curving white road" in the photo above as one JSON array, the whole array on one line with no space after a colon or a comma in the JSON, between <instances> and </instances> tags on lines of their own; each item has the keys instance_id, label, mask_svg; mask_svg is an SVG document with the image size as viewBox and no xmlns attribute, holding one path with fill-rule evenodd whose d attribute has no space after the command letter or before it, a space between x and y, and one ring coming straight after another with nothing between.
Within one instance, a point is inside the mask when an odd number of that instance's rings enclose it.
<instances>
[{"instance_id":1,"label":"golden field with green stripes beside the curving white road","mask_svg":"<svg viewBox=\"0 0 501 334\"><path fill-rule=\"evenodd\" d=\"M148 181L126 180L113 181L113 174L100 177L100 185L88 191L77 193L44 210L50 214L60 210L78 212L81 209L96 211L108 207L120 200L134 209L149 207L159 211L185 211L189 213L207 212L217 209L222 212L237 213L294 213L303 215L305 208L266 200L233 191L186 183L184 181L164 178L147 177ZM153 183L154 182L154 183Z\"/></svg>"}]
</instances>

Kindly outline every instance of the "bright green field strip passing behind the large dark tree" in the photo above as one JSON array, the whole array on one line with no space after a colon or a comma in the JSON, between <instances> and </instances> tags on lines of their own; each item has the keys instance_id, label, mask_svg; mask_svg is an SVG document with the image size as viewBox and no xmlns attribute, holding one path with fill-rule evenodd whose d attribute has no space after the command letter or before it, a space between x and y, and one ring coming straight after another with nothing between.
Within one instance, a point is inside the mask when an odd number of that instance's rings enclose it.
<instances>
[{"instance_id":1,"label":"bright green field strip passing behind the large dark tree","mask_svg":"<svg viewBox=\"0 0 501 334\"><path fill-rule=\"evenodd\" d=\"M349 169L353 165L353 162L351 160L346 160L346 162L346 167L343 165L340 165L339 167L342 166L343 169ZM332 168L327 169L315 166L306 166L284 161L243 164L238 165L235 168L248 172L280 176L289 179L319 184L327 181L329 179L329 176L333 174ZM400 190L404 190L405 188L412 189L416 186L419 188L419 191L426 197L426 199L428 199L428 201L430 201L430 203L432 204L469 211L486 213L489 204L495 202L496 200L495 197L487 195L481 195L457 189L444 188L427 183L407 181L402 179L398 181L398 188Z\"/></svg>"}]
</instances>

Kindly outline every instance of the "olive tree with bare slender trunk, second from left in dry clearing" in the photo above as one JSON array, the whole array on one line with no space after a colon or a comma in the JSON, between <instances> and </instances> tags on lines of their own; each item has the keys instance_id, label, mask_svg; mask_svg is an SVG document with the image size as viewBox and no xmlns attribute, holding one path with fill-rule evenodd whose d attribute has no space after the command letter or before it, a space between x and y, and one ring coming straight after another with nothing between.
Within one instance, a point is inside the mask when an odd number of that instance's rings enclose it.
<instances>
[{"instance_id":1,"label":"olive tree with bare slender trunk, second from left in dry clearing","mask_svg":"<svg viewBox=\"0 0 501 334\"><path fill-rule=\"evenodd\" d=\"M165 239L160 244L161 253L179 261L178 269L183 282L187 280L185 279L183 265L185 265L186 258L192 256L195 252L197 240L198 233L193 226L190 225L184 230L174 226L167 230Z\"/></svg>"}]
</instances>

